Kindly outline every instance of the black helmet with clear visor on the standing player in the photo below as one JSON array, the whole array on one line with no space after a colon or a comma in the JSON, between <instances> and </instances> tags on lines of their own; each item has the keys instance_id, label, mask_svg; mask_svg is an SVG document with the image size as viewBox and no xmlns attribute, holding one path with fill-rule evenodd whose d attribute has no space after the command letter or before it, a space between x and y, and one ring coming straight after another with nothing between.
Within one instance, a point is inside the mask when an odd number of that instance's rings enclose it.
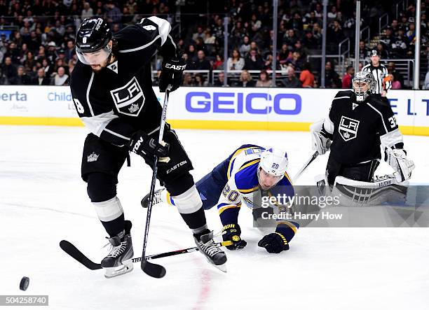
<instances>
[{"instance_id":1,"label":"black helmet with clear visor on the standing player","mask_svg":"<svg viewBox=\"0 0 429 310\"><path fill-rule=\"evenodd\" d=\"M100 64L111 53L111 31L102 18L86 18L76 34L76 54L84 64ZM99 53L96 53L99 52ZM88 57L98 54L98 57Z\"/></svg>"}]
</instances>

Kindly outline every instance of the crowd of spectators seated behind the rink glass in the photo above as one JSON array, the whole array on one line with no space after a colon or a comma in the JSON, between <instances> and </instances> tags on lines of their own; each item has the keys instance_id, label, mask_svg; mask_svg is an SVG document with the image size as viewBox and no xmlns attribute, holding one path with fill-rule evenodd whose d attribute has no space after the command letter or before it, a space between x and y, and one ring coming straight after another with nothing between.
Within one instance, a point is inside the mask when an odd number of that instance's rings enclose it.
<instances>
[{"instance_id":1,"label":"crowd of spectators seated behind the rink glass","mask_svg":"<svg viewBox=\"0 0 429 310\"><path fill-rule=\"evenodd\" d=\"M158 15L177 23L179 2L173 0L0 0L0 84L1 85L68 85L76 65L74 49L76 27L87 17L104 17L113 33L142 17ZM200 2L186 0L183 8L198 10ZM186 86L222 86L226 66L232 71L228 85L238 87L269 87L273 69L272 1L229 0L209 1L210 14L182 17L182 31L172 33L183 52L187 70ZM391 3L362 1L361 28L368 26L377 34L379 16L391 13ZM182 3L183 4L183 3ZM193 5L194 4L194 5ZM329 1L327 14L327 54L337 53L345 38L353 38L355 10L353 0ZM429 1L422 1L422 57L428 57L426 19ZM381 59L414 57L416 8L410 5L377 36L376 43L360 42L362 64L369 61L369 51L379 50ZM320 58L311 62L308 55L321 54L322 4L315 0L280 0L277 34L276 76L279 87L319 87ZM229 16L228 46L224 46L224 16ZM201 17L203 16L203 17ZM187 17L187 18L186 18ZM353 40L352 40L353 41ZM353 44L353 42L352 42ZM228 58L224 59L224 48ZM353 48L350 48L353 54ZM350 55L352 56L352 55ZM314 58L313 58L314 59ZM154 59L154 85L162 59ZM336 69L336 58L325 63L325 87L349 88L353 67ZM404 88L404 78L389 62L394 88Z\"/></svg>"}]
</instances>

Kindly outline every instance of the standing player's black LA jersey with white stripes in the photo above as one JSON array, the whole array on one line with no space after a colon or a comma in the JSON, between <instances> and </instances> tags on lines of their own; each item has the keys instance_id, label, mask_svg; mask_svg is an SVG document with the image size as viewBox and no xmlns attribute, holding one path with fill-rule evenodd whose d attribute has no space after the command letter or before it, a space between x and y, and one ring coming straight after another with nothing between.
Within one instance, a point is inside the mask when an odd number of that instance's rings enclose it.
<instances>
[{"instance_id":1,"label":"standing player's black LA jersey with white stripes","mask_svg":"<svg viewBox=\"0 0 429 310\"><path fill-rule=\"evenodd\" d=\"M116 146L128 143L138 129L148 134L159 127L161 104L152 89L151 57L159 51L174 57L170 24L144 18L114 34L114 62L95 73L78 62L70 88L76 111L90 132Z\"/></svg>"}]
</instances>

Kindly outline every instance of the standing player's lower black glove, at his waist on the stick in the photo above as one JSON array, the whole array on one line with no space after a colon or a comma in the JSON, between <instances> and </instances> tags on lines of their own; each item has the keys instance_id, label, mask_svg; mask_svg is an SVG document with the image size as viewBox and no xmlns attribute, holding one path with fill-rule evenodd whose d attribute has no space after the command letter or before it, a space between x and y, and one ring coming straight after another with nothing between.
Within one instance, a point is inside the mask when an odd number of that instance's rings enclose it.
<instances>
[{"instance_id":1,"label":"standing player's lower black glove, at his waist on the stick","mask_svg":"<svg viewBox=\"0 0 429 310\"><path fill-rule=\"evenodd\" d=\"M139 130L131 136L130 150L142 157L149 155L156 155L158 157L166 157L170 150L170 144L165 143L162 145L154 138L148 136L146 132Z\"/></svg>"}]
</instances>

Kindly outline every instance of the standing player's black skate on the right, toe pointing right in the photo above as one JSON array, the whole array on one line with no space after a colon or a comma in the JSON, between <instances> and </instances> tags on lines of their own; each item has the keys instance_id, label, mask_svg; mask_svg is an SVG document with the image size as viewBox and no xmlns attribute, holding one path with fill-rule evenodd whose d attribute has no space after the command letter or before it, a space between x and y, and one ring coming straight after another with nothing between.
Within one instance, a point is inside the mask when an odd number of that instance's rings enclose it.
<instances>
[{"instance_id":1,"label":"standing player's black skate on the right, toe pointing right","mask_svg":"<svg viewBox=\"0 0 429 310\"><path fill-rule=\"evenodd\" d=\"M203 234L200 239L194 235L195 244L208 262L222 272L226 272L226 254L214 244L213 232Z\"/></svg>"}]
</instances>

